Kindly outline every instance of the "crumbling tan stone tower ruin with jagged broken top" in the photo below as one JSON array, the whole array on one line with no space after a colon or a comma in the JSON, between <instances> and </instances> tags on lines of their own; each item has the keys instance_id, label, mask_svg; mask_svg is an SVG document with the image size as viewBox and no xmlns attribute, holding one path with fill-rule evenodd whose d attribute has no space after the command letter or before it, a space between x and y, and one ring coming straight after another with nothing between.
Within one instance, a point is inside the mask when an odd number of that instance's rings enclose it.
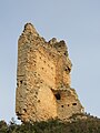
<instances>
[{"instance_id":1,"label":"crumbling tan stone tower ruin with jagged broken top","mask_svg":"<svg viewBox=\"0 0 100 133\"><path fill-rule=\"evenodd\" d=\"M31 23L18 41L16 113L23 121L67 120L83 112L70 88L71 61L64 41L47 42Z\"/></svg>"}]
</instances>

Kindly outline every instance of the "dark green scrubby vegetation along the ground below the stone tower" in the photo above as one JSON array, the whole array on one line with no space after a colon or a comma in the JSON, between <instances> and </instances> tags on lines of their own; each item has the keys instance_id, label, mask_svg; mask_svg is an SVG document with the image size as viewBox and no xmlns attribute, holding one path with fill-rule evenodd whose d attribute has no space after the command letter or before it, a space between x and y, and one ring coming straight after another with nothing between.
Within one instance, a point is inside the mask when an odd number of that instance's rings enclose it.
<instances>
[{"instance_id":1,"label":"dark green scrubby vegetation along the ground below the stone tower","mask_svg":"<svg viewBox=\"0 0 100 133\"><path fill-rule=\"evenodd\" d=\"M17 124L12 119L9 124L0 121L0 133L100 133L100 119L88 115L87 119L77 119L73 115L70 122L59 120L48 122Z\"/></svg>"}]
</instances>

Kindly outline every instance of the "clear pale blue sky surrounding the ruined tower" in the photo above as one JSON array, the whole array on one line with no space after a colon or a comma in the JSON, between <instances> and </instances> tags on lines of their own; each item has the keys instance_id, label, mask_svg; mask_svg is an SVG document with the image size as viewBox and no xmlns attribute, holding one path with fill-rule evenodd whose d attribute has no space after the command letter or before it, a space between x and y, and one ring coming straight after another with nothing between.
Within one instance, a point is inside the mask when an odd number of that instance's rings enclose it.
<instances>
[{"instance_id":1,"label":"clear pale blue sky surrounding the ruined tower","mask_svg":"<svg viewBox=\"0 0 100 133\"><path fill-rule=\"evenodd\" d=\"M100 117L100 0L0 1L0 120L16 117L18 38L27 22L50 40L64 40L71 86L86 112Z\"/></svg>"}]
</instances>

